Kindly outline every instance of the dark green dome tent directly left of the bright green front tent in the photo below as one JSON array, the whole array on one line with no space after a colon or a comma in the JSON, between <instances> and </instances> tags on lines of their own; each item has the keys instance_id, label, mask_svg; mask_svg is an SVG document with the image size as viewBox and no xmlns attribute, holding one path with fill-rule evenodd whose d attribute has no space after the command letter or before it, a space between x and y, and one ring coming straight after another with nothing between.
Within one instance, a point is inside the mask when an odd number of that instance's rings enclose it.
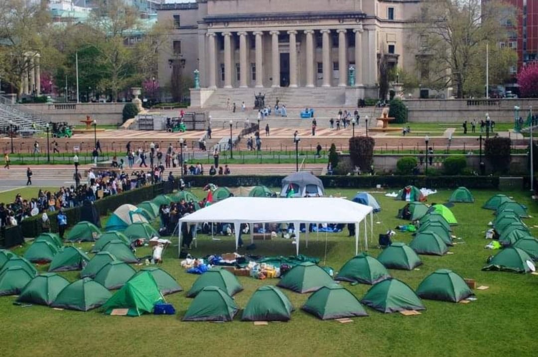
<instances>
[{"instance_id":1,"label":"dark green dome tent directly left of the bright green front tent","mask_svg":"<svg viewBox=\"0 0 538 357\"><path fill-rule=\"evenodd\" d=\"M100 307L112 294L100 283L83 278L62 289L51 304L53 308L88 311Z\"/></svg>"}]
</instances>

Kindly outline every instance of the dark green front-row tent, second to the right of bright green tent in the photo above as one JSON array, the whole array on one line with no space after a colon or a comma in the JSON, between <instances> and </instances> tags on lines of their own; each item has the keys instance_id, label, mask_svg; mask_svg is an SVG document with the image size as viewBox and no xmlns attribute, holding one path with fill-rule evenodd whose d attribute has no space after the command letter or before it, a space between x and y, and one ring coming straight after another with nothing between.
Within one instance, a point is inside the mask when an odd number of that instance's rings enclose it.
<instances>
[{"instance_id":1,"label":"dark green front-row tent, second to the right of bright green tent","mask_svg":"<svg viewBox=\"0 0 538 357\"><path fill-rule=\"evenodd\" d=\"M243 310L242 321L288 321L293 305L288 297L271 285L260 286Z\"/></svg>"}]
</instances>

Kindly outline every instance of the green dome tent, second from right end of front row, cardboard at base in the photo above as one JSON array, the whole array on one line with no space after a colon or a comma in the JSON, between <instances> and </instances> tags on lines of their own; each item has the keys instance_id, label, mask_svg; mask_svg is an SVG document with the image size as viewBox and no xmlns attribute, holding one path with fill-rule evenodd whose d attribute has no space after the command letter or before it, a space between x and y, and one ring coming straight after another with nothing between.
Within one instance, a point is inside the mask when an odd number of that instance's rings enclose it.
<instances>
[{"instance_id":1,"label":"green dome tent, second from right end of front row, cardboard at base","mask_svg":"<svg viewBox=\"0 0 538 357\"><path fill-rule=\"evenodd\" d=\"M372 286L360 302L385 313L426 310L415 292L397 279L387 279Z\"/></svg>"}]
</instances>

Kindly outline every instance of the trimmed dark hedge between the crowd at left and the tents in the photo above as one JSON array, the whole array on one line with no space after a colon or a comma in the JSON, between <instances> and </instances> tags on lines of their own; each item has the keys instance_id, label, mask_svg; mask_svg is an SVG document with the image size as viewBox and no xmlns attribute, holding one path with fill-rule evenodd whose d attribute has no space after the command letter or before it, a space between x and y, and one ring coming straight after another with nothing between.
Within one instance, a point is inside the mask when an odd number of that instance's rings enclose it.
<instances>
[{"instance_id":1,"label":"trimmed dark hedge between the crowd at left and the tents","mask_svg":"<svg viewBox=\"0 0 538 357\"><path fill-rule=\"evenodd\" d=\"M124 193L107 196L95 201L95 207L100 216L107 215L109 212L114 212L116 208L125 203L137 205L140 202L152 200L155 196L172 192L173 187L167 183L159 183L156 185L137 188L136 190L126 191ZM67 215L67 227L72 227L80 222L81 207L73 207L65 210ZM58 220L56 215L58 211L47 212L48 218L51 220L51 230L58 232ZM41 215L33 216L23 220L20 225L23 229L24 237L37 237L41 234Z\"/></svg>"}]
</instances>

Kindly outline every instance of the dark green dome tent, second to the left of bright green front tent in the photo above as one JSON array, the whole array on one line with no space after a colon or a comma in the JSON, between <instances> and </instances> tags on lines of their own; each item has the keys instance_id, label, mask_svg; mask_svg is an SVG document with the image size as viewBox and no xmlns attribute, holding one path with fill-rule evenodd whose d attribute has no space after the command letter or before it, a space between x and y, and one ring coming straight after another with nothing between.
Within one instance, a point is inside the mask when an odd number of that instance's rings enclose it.
<instances>
[{"instance_id":1,"label":"dark green dome tent, second to the left of bright green front tent","mask_svg":"<svg viewBox=\"0 0 538 357\"><path fill-rule=\"evenodd\" d=\"M44 273L26 284L17 301L49 306L68 285L69 281L63 276L56 273Z\"/></svg>"}]
</instances>

